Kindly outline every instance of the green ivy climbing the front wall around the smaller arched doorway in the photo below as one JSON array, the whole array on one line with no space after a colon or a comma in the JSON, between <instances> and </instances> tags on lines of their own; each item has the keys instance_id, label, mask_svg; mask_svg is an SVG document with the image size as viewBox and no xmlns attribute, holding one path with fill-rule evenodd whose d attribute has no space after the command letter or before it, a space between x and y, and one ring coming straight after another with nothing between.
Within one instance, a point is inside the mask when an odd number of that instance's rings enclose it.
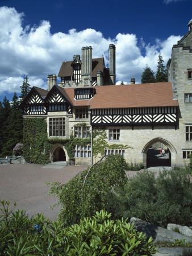
<instances>
[{"instance_id":1,"label":"green ivy climbing the front wall around the smaller arched doorway","mask_svg":"<svg viewBox=\"0 0 192 256\"><path fill-rule=\"evenodd\" d=\"M86 123L77 123L74 126L87 126ZM109 145L106 141L107 132L105 127L93 130L93 156L105 155L106 148L118 149L129 148L123 144ZM48 138L47 122L44 118L26 118L24 119L24 133L23 133L23 156L29 163L45 164L49 163L49 151L53 144L62 144L69 156L70 160L74 160L74 145L86 146L91 144L91 138L74 138L73 133L70 134L69 139Z\"/></svg>"}]
</instances>

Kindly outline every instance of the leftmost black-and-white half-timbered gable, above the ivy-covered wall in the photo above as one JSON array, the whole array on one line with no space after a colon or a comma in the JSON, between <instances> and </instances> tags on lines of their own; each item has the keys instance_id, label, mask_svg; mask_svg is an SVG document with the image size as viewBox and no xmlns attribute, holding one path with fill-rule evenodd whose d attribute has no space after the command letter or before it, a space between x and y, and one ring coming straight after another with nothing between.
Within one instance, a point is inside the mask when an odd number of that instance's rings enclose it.
<instances>
[{"instance_id":1,"label":"leftmost black-and-white half-timbered gable, above the ivy-covered wall","mask_svg":"<svg viewBox=\"0 0 192 256\"><path fill-rule=\"evenodd\" d=\"M48 91L33 87L24 98L20 108L23 109L23 115L45 115L47 114L44 98Z\"/></svg>"}]
</instances>

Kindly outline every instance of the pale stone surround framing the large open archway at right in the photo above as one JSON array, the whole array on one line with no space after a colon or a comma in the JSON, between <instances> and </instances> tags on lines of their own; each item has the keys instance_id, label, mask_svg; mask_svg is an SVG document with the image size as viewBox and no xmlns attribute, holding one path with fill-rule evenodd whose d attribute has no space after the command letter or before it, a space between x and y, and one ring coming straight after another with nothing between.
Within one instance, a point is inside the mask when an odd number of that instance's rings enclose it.
<instances>
[{"instance_id":1,"label":"pale stone surround framing the large open archway at right","mask_svg":"<svg viewBox=\"0 0 192 256\"><path fill-rule=\"evenodd\" d=\"M177 155L176 148L173 146L172 143L170 143L169 141L166 141L166 139L163 139L163 138L160 138L160 137L152 139L151 141L149 141L144 146L144 148L142 150L144 166L148 167L149 155L147 153L148 153L149 148L151 148L152 144L155 144L155 143L158 143L158 142L164 144L168 148L169 161L168 162L166 162L166 161L163 162L162 161L162 166L163 166L163 163L166 163L166 166L172 166L172 167L176 166L176 155ZM158 154L158 152L157 152L157 154ZM157 165L155 164L154 166L158 166L158 164Z\"/></svg>"}]
</instances>

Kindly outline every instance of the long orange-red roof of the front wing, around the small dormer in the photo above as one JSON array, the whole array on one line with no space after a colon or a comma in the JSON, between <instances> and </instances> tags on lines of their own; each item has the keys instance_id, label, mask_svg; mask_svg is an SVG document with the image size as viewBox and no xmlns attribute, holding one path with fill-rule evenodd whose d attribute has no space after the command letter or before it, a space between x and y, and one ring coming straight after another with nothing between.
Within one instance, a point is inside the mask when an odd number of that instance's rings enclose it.
<instances>
[{"instance_id":1,"label":"long orange-red roof of the front wing, around the small dormer","mask_svg":"<svg viewBox=\"0 0 192 256\"><path fill-rule=\"evenodd\" d=\"M75 100L74 88L57 88L73 106L90 109L178 106L178 101L173 100L171 82L98 86L90 100Z\"/></svg>"}]
</instances>

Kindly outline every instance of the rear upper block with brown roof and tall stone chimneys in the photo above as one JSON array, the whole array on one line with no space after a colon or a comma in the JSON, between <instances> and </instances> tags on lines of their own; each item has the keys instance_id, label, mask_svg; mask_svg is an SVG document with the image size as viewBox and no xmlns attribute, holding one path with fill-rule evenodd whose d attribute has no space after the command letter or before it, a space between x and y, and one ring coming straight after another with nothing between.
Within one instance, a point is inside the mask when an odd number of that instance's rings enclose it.
<instances>
[{"instance_id":1,"label":"rear upper block with brown roof and tall stone chimneys","mask_svg":"<svg viewBox=\"0 0 192 256\"><path fill-rule=\"evenodd\" d=\"M92 59L92 47L82 47L82 59L80 55L74 55L72 61L64 61L61 65L58 77L61 78L59 86L84 87L115 85L115 46L110 44L108 48L109 68L105 67L104 58ZM48 76L48 90L57 84L57 76Z\"/></svg>"}]
</instances>

